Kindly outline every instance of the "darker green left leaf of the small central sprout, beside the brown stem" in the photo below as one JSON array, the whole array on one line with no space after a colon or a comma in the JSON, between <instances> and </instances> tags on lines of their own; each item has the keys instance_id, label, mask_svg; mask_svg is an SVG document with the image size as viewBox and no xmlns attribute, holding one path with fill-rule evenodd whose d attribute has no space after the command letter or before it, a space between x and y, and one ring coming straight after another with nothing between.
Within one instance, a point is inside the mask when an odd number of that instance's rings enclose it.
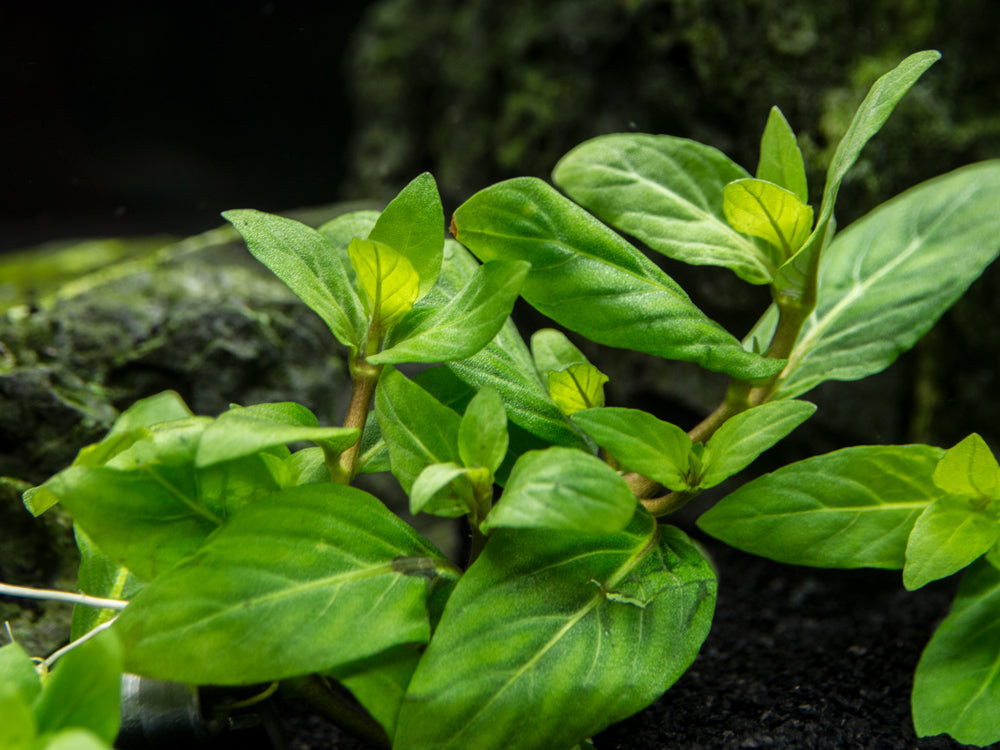
<instances>
[{"instance_id":1,"label":"darker green left leaf of the small central sprout, beside the brown stem","mask_svg":"<svg viewBox=\"0 0 1000 750\"><path fill-rule=\"evenodd\" d=\"M394 368L382 373L375 415L389 448L393 476L409 493L431 464L460 464L461 417Z\"/></svg>"}]
</instances>

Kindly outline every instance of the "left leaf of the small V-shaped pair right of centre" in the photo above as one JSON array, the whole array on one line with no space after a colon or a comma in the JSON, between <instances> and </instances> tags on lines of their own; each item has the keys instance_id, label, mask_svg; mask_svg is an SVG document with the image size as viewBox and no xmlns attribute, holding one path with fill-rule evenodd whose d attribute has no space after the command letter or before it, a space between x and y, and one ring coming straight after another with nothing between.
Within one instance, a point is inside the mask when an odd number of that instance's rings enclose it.
<instances>
[{"instance_id":1,"label":"left leaf of the small V-shaped pair right of centre","mask_svg":"<svg viewBox=\"0 0 1000 750\"><path fill-rule=\"evenodd\" d=\"M677 425L620 407L578 411L573 421L622 466L668 489L691 489L691 438Z\"/></svg>"}]
</instances>

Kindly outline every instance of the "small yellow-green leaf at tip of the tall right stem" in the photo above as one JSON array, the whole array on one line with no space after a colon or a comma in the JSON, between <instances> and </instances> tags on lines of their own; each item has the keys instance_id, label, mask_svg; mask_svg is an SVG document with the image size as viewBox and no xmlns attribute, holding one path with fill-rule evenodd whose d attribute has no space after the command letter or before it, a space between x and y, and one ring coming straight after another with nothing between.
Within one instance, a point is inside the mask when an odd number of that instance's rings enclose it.
<instances>
[{"instance_id":1,"label":"small yellow-green leaf at tip of the tall right stem","mask_svg":"<svg viewBox=\"0 0 1000 750\"><path fill-rule=\"evenodd\" d=\"M773 182L736 180L722 191L723 210L738 232L760 237L790 258L812 231L812 208Z\"/></svg>"}]
</instances>

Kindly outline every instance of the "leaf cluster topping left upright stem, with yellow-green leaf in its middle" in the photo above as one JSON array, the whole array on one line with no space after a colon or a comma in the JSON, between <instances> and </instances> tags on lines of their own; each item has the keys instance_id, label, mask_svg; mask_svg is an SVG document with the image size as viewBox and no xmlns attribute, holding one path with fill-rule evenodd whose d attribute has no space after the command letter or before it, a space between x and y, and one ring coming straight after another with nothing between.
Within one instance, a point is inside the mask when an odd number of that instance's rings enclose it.
<instances>
[{"instance_id":1,"label":"leaf cluster topping left upright stem, with yellow-green leaf in its middle","mask_svg":"<svg viewBox=\"0 0 1000 750\"><path fill-rule=\"evenodd\" d=\"M352 355L365 355L372 364L474 354L503 325L527 273L513 261L487 264L447 302L421 305L435 288L444 257L441 199L426 173L381 214L341 216L319 230L259 211L223 216Z\"/></svg>"}]
</instances>

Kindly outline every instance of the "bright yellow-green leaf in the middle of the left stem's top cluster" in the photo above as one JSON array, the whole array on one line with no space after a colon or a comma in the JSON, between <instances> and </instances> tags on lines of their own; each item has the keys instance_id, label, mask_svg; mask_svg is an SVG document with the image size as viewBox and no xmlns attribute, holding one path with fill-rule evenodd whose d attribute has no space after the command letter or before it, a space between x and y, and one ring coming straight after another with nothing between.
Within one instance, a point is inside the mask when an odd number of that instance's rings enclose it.
<instances>
[{"instance_id":1,"label":"bright yellow-green leaf in the middle of the left stem's top cluster","mask_svg":"<svg viewBox=\"0 0 1000 750\"><path fill-rule=\"evenodd\" d=\"M420 277L406 256L373 240L351 240L347 247L358 283L365 291L365 309L380 330L395 325L413 309Z\"/></svg>"}]
</instances>

